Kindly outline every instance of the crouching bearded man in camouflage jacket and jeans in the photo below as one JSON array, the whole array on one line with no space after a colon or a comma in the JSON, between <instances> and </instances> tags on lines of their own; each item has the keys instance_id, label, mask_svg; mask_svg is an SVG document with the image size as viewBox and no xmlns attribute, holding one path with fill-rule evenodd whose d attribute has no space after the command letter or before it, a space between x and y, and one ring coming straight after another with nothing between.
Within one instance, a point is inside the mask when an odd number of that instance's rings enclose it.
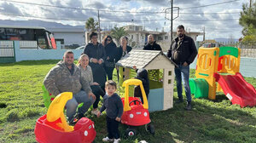
<instances>
[{"instance_id":1,"label":"crouching bearded man in camouflage jacket and jeans","mask_svg":"<svg viewBox=\"0 0 256 143\"><path fill-rule=\"evenodd\" d=\"M63 60L58 62L44 78L44 86L50 94L56 96L62 92L73 93L73 99L66 103L67 117L70 124L84 117L84 113L96 100L89 83L83 80L81 71L73 64L73 60L73 52L67 50L63 55ZM79 103L84 104L79 107L78 114L75 116Z\"/></svg>"}]
</instances>

